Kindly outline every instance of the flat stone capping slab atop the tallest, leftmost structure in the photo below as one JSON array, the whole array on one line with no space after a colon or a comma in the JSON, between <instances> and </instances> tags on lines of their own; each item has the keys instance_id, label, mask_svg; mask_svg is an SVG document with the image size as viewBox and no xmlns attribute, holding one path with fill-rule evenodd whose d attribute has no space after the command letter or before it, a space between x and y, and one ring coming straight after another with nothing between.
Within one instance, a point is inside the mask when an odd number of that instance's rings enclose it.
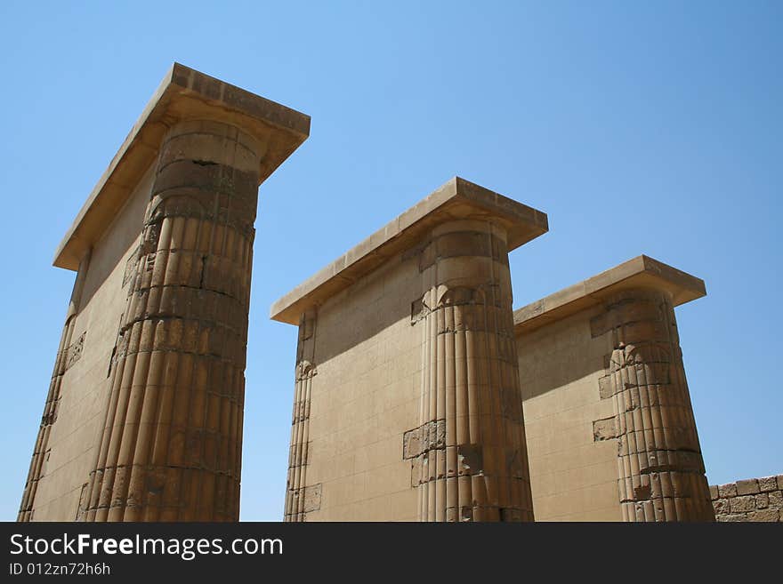
<instances>
[{"instance_id":1,"label":"flat stone capping slab atop the tallest, leftmost structure","mask_svg":"<svg viewBox=\"0 0 783 584\"><path fill-rule=\"evenodd\" d=\"M310 116L174 63L149 100L54 254L54 266L77 270L157 152L166 130L186 119L238 126L266 145L259 184L310 134Z\"/></svg>"}]
</instances>

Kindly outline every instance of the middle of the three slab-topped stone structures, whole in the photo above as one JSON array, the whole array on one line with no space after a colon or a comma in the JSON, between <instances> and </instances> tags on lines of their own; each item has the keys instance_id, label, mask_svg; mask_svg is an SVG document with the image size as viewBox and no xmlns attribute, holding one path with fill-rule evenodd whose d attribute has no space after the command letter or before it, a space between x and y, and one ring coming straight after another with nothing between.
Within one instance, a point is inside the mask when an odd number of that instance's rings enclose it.
<instances>
[{"instance_id":1,"label":"middle of the three slab-topped stone structures, whole","mask_svg":"<svg viewBox=\"0 0 783 584\"><path fill-rule=\"evenodd\" d=\"M275 303L299 325L286 520L532 519L507 254L546 229L450 180Z\"/></svg>"}]
</instances>

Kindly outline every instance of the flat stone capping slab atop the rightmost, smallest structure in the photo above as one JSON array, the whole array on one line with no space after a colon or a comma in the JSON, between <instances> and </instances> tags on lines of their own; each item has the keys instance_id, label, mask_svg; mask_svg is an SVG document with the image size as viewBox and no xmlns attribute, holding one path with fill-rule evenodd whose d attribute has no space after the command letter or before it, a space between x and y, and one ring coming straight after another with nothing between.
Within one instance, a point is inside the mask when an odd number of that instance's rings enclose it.
<instances>
[{"instance_id":1,"label":"flat stone capping slab atop the rightmost, smallest structure","mask_svg":"<svg viewBox=\"0 0 783 584\"><path fill-rule=\"evenodd\" d=\"M646 255L640 255L579 284L514 310L514 332L519 335L534 331L579 310L590 308L615 292L631 288L653 288L668 292L674 306L706 296L703 280Z\"/></svg>"}]
</instances>

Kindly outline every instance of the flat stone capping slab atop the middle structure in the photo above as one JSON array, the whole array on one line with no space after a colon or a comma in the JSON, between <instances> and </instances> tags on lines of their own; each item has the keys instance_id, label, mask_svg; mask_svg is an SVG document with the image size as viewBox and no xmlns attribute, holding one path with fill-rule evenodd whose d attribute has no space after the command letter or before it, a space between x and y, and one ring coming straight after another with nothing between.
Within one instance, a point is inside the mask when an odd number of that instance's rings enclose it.
<instances>
[{"instance_id":1,"label":"flat stone capping slab atop the middle structure","mask_svg":"<svg viewBox=\"0 0 783 584\"><path fill-rule=\"evenodd\" d=\"M455 177L272 304L270 318L299 324L308 308L322 304L394 254L420 244L433 227L460 219L502 225L509 252L549 230L544 212Z\"/></svg>"}]
</instances>

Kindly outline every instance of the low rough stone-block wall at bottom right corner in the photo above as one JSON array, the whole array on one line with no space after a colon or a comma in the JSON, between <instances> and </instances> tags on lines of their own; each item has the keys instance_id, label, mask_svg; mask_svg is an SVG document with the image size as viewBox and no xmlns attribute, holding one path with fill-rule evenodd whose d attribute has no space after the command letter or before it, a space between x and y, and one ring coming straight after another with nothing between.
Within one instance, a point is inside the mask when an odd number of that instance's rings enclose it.
<instances>
[{"instance_id":1,"label":"low rough stone-block wall at bottom right corner","mask_svg":"<svg viewBox=\"0 0 783 584\"><path fill-rule=\"evenodd\" d=\"M717 521L783 521L783 475L710 486Z\"/></svg>"}]
</instances>

